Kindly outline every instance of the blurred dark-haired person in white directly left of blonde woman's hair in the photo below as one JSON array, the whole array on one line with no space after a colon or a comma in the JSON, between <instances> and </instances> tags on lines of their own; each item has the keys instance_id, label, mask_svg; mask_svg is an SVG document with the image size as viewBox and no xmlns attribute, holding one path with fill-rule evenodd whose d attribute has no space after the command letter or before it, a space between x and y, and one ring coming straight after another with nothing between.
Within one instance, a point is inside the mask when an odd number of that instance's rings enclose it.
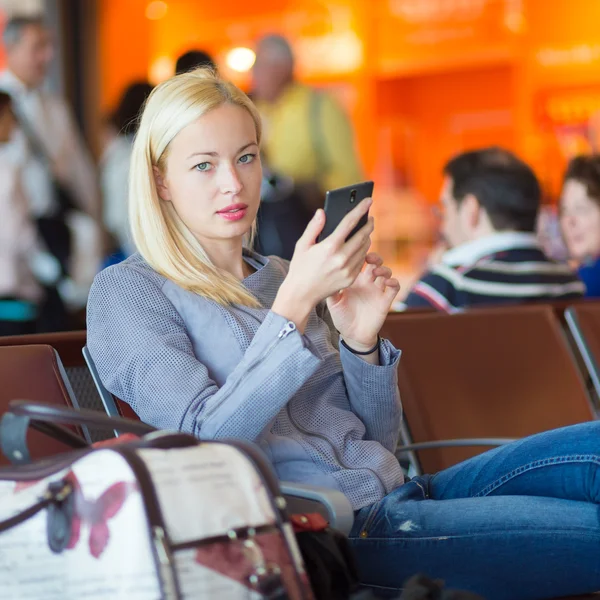
<instances>
[{"instance_id":1,"label":"blurred dark-haired person in white directly left of blonde woman's hair","mask_svg":"<svg viewBox=\"0 0 600 600\"><path fill-rule=\"evenodd\" d=\"M131 147L138 127L138 115L152 86L146 81L129 85L105 126L105 147L100 160L102 216L113 236L111 261L134 252L127 217Z\"/></svg>"}]
</instances>

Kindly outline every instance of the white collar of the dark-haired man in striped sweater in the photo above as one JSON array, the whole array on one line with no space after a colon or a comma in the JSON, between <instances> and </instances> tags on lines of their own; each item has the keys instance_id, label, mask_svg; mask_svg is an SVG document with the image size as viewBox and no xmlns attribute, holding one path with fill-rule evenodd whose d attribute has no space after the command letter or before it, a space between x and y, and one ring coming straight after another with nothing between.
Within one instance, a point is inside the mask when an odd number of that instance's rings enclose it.
<instances>
[{"instance_id":1,"label":"white collar of the dark-haired man in striped sweater","mask_svg":"<svg viewBox=\"0 0 600 600\"><path fill-rule=\"evenodd\" d=\"M514 248L539 249L540 244L535 233L503 231L472 242L466 242L448 250L442 256L442 264L449 267L473 265L490 254Z\"/></svg>"}]
</instances>

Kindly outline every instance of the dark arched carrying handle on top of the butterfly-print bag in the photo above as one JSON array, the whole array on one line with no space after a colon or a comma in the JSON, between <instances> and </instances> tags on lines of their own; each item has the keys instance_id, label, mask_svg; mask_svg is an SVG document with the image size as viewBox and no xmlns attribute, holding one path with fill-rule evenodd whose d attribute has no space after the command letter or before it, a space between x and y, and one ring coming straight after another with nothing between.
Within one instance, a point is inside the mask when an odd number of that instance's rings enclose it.
<instances>
[{"instance_id":1,"label":"dark arched carrying handle on top of the butterfly-print bag","mask_svg":"<svg viewBox=\"0 0 600 600\"><path fill-rule=\"evenodd\" d=\"M87 448L89 444L81 436L64 425L87 426L94 429L120 431L145 435L156 429L141 421L109 417L94 410L78 410L57 406L47 402L11 400L8 410L0 419L0 449L14 465L31 462L27 445L27 431L31 427L66 446L75 449Z\"/></svg>"}]
</instances>

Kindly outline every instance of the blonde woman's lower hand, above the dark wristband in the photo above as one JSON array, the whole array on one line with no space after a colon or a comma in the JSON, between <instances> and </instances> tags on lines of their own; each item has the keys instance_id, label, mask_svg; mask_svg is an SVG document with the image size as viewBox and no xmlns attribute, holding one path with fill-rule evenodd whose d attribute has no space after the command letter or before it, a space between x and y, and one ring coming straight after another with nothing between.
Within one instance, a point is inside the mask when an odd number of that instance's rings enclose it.
<instances>
[{"instance_id":1,"label":"blonde woman's lower hand, above the dark wristband","mask_svg":"<svg viewBox=\"0 0 600 600\"><path fill-rule=\"evenodd\" d=\"M333 324L344 342L358 352L377 344L379 330L400 290L392 270L384 266L378 254L368 254L366 263L351 286L327 299Z\"/></svg>"}]
</instances>

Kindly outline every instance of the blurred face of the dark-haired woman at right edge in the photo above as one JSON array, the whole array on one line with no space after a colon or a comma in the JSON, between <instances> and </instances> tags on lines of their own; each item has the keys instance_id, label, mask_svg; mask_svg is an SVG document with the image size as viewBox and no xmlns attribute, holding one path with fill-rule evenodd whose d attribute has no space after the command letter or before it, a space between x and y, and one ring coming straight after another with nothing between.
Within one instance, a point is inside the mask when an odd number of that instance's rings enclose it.
<instances>
[{"instance_id":1,"label":"blurred face of the dark-haired woman at right edge","mask_svg":"<svg viewBox=\"0 0 600 600\"><path fill-rule=\"evenodd\" d=\"M600 203L575 179L568 179L563 187L560 227L572 258L581 261L600 256Z\"/></svg>"}]
</instances>

